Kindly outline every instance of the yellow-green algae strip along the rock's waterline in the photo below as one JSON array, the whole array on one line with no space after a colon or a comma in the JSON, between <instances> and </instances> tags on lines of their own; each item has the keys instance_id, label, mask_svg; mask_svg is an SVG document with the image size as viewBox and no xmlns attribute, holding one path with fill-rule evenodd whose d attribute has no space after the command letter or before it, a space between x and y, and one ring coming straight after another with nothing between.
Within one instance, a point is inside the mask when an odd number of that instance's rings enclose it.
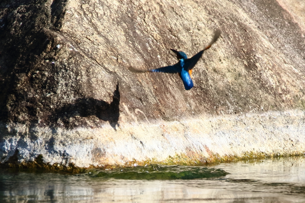
<instances>
[{"instance_id":1,"label":"yellow-green algae strip along the rock's waterline","mask_svg":"<svg viewBox=\"0 0 305 203\"><path fill-rule=\"evenodd\" d=\"M12 156L5 163L0 163L0 169L7 169L11 171L20 172L54 172L54 173L84 173L86 170L117 170L128 167L137 166L148 166L152 164L166 165L166 166L212 166L220 163L229 163L233 161L256 161L261 159L273 159L281 157L295 157L295 156L305 156L305 153L301 154L279 154L279 153L263 153L263 152L244 152L241 156L214 154L210 152L209 157L200 156L199 154L176 154L174 156L168 156L165 160L158 160L156 158L146 159L144 161L139 161L132 159L132 161L125 162L124 165L109 165L105 164L103 166L89 166L89 167L77 167L74 163L45 163L43 156L38 155L34 161L21 162L18 163L18 159Z\"/></svg>"}]
</instances>

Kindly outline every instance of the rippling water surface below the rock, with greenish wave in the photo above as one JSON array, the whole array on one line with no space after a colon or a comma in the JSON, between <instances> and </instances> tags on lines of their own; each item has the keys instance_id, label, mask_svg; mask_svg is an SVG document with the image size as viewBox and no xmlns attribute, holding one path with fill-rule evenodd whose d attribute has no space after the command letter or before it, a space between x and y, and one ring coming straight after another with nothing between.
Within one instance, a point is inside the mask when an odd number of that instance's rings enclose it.
<instances>
[{"instance_id":1,"label":"rippling water surface below the rock, with greenish wave","mask_svg":"<svg viewBox=\"0 0 305 203\"><path fill-rule=\"evenodd\" d=\"M305 158L77 175L2 170L0 202L305 202Z\"/></svg>"}]
</instances>

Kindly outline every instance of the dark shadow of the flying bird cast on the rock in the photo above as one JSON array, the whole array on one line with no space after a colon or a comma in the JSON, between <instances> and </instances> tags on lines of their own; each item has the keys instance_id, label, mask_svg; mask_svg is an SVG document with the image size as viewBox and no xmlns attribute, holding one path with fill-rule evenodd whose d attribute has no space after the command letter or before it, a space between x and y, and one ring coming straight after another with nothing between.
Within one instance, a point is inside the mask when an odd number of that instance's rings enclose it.
<instances>
[{"instance_id":1,"label":"dark shadow of the flying bird cast on the rock","mask_svg":"<svg viewBox=\"0 0 305 203\"><path fill-rule=\"evenodd\" d=\"M55 110L50 121L54 127L58 126L58 123L60 123L65 128L72 129L88 125L87 121L90 121L90 123L96 123L96 118L92 117L95 116L100 120L109 121L111 127L116 130L116 126L119 126L119 105L120 91L119 83L117 83L111 103L94 98L80 98L73 104L66 104Z\"/></svg>"}]
</instances>

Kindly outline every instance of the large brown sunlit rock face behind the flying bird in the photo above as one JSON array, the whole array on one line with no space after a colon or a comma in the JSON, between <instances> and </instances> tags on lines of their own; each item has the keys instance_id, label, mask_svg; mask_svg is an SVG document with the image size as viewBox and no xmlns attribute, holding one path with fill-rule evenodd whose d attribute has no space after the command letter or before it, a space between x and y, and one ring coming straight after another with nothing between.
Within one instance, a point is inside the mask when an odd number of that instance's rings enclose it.
<instances>
[{"instance_id":1,"label":"large brown sunlit rock face behind the flying bird","mask_svg":"<svg viewBox=\"0 0 305 203\"><path fill-rule=\"evenodd\" d=\"M42 154L49 163L87 167L133 158L162 162L177 154L305 152L305 5L295 2L2 1L1 162ZM191 57L217 29L221 37L193 69L191 90L178 74L128 70L176 63L169 48ZM262 115L270 118L259 124ZM282 140L276 147L274 129ZM235 137L227 151L220 149L219 132ZM256 147L249 143L253 136L260 140ZM168 145L158 148L165 138ZM192 142L182 145L185 139ZM121 142L129 144L116 145ZM134 153L127 152L133 145ZM142 149L148 145L151 151Z\"/></svg>"}]
</instances>

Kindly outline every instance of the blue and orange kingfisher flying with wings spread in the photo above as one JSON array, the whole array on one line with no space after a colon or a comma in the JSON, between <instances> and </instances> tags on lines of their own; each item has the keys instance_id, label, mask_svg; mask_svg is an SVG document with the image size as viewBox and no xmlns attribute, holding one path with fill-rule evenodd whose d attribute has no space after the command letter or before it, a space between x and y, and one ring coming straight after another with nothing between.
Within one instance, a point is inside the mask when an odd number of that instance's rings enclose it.
<instances>
[{"instance_id":1,"label":"blue and orange kingfisher flying with wings spread","mask_svg":"<svg viewBox=\"0 0 305 203\"><path fill-rule=\"evenodd\" d=\"M210 42L210 44L206 48L204 48L203 50L199 51L197 54L192 56L191 58L188 58L183 51L176 51L174 49L170 49L176 54L178 59L178 63L174 65L169 65L162 68L149 69L149 70L139 70L133 67L129 67L129 70L132 72L178 73L181 80L183 81L184 88L186 90L192 89L192 87L194 86L194 83L192 81L192 69L196 65L197 61L201 58L203 52L209 49L212 46L212 44L216 42L216 40L220 36L220 33L221 33L220 30L217 30L214 33L213 40Z\"/></svg>"}]
</instances>

